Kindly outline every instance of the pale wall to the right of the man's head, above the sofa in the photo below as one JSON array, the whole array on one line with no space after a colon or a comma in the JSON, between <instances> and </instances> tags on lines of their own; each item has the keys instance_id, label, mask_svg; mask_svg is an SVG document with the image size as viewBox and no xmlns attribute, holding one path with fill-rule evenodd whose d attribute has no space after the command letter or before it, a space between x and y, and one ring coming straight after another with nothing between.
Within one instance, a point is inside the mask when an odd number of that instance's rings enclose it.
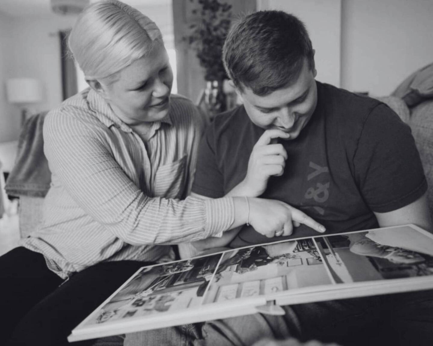
<instances>
[{"instance_id":1,"label":"pale wall to the right of the man's head, above the sofa","mask_svg":"<svg viewBox=\"0 0 433 346\"><path fill-rule=\"evenodd\" d=\"M257 0L298 15L316 49L317 79L356 92L390 94L433 62L432 0Z\"/></svg>"}]
</instances>

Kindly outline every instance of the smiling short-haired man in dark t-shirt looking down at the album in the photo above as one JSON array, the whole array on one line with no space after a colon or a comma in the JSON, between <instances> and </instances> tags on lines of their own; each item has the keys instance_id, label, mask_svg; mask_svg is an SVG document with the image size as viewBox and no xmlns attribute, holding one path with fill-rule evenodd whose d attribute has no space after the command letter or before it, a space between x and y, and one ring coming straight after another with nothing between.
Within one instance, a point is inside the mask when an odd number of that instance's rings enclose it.
<instances>
[{"instance_id":1,"label":"smiling short-haired man in dark t-shirt looking down at the album","mask_svg":"<svg viewBox=\"0 0 433 346\"><path fill-rule=\"evenodd\" d=\"M231 29L223 59L243 105L210 125L194 195L278 199L323 224L326 234L408 223L433 230L410 128L377 100L317 82L314 50L299 19L281 11L246 16ZM282 234L317 234L293 226ZM194 247L268 241L246 226ZM427 291L298 304L284 307L282 317L255 314L155 333L166 344L179 344L182 335L185 344L195 338L200 345L251 345L263 336L423 345L433 338L431 296ZM127 335L126 345L139 344L128 343L134 337Z\"/></svg>"}]
</instances>

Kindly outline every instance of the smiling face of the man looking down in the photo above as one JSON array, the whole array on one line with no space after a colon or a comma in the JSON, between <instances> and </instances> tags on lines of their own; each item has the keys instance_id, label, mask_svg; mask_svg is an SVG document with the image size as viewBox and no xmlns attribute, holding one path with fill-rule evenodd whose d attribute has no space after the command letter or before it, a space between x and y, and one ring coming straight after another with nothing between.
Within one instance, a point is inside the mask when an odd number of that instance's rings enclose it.
<instances>
[{"instance_id":1,"label":"smiling face of the man looking down","mask_svg":"<svg viewBox=\"0 0 433 346\"><path fill-rule=\"evenodd\" d=\"M255 95L244 88L239 95L251 121L265 130L281 129L290 134L289 139L299 136L307 125L317 105L316 71L310 70L304 60L301 73L290 86L275 90L266 96Z\"/></svg>"}]
</instances>

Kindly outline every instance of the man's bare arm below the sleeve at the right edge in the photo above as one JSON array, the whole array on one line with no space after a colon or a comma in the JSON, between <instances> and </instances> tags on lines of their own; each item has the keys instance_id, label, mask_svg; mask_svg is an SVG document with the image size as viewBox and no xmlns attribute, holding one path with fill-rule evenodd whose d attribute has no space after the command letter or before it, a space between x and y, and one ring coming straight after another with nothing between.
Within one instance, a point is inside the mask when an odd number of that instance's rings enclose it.
<instances>
[{"instance_id":1,"label":"man's bare arm below the sleeve at the right edge","mask_svg":"<svg viewBox=\"0 0 433 346\"><path fill-rule=\"evenodd\" d=\"M376 213L380 227L415 224L433 233L433 223L427 205L427 192L415 202L387 213Z\"/></svg>"}]
</instances>

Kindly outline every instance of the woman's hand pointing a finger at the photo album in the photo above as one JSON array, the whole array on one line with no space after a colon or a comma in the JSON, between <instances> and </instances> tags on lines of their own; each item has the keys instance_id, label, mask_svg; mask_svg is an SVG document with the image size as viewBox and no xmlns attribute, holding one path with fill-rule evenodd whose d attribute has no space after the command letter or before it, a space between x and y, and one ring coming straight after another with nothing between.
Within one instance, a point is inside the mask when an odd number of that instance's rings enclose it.
<instances>
[{"instance_id":1,"label":"woman's hand pointing a finger at the photo album","mask_svg":"<svg viewBox=\"0 0 433 346\"><path fill-rule=\"evenodd\" d=\"M298 227L300 224L305 224L320 233L325 231L323 225L284 202L261 198L248 200L249 223L257 232L268 238L291 235L293 227Z\"/></svg>"}]
</instances>

